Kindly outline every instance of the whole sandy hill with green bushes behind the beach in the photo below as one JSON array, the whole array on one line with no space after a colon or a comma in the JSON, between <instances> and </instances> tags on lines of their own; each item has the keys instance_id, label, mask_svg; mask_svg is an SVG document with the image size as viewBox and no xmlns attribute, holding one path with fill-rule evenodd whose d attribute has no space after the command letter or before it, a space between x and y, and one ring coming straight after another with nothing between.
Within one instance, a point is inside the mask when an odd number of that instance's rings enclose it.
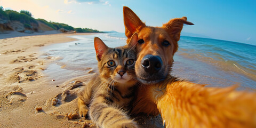
<instances>
[{"instance_id":1,"label":"whole sandy hill with green bushes behind the beach","mask_svg":"<svg viewBox=\"0 0 256 128\"><path fill-rule=\"evenodd\" d=\"M65 23L48 22L44 19L35 19L29 11L20 12L13 10L4 10L0 6L0 34L10 31L19 31L20 33L41 33L47 30L58 30L61 33L102 33L101 31L90 28L74 28Z\"/></svg>"}]
</instances>

